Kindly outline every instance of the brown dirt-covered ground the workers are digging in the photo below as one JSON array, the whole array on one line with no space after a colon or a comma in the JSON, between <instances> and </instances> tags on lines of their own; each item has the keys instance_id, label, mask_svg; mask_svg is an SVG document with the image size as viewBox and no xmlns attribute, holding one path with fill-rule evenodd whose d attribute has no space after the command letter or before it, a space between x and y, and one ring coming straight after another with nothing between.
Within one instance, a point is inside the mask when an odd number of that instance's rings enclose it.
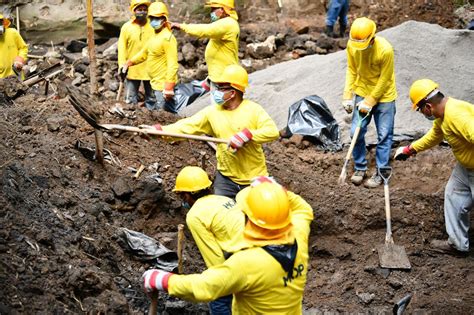
<instances>
[{"instance_id":1,"label":"brown dirt-covered ground the workers are digging","mask_svg":"<svg viewBox=\"0 0 474 315\"><path fill-rule=\"evenodd\" d=\"M97 103L104 122L170 123L168 113L134 111L117 118ZM75 148L94 147L93 129L66 99L27 95L0 107L0 313L143 314L149 299L140 276L151 266L121 247L120 228L143 232L176 249L185 212L171 192L185 165L215 170L213 150L201 142L170 144L131 133L106 135L113 164L102 168ZM347 148L325 153L286 141L265 146L270 173L314 209L310 268L304 298L308 314L390 313L412 294L410 313L470 314L474 255L456 258L430 251L446 238L443 192L454 165L447 147L393 162L391 207L395 243L406 248L410 272L381 269L375 248L384 242L383 189L339 186ZM373 152L370 153L373 160ZM147 168L133 179L129 168ZM373 167L373 166L372 166ZM159 174L162 184L150 175ZM184 272L204 264L186 231ZM160 310L207 310L160 296Z\"/></svg>"}]
</instances>

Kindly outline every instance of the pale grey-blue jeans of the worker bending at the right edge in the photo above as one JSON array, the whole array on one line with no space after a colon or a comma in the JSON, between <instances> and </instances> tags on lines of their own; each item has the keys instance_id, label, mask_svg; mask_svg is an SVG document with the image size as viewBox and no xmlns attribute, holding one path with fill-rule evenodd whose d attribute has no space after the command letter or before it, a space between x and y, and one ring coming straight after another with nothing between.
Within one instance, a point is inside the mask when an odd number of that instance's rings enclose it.
<instances>
[{"instance_id":1,"label":"pale grey-blue jeans of the worker bending at the right edge","mask_svg":"<svg viewBox=\"0 0 474 315\"><path fill-rule=\"evenodd\" d=\"M444 220L449 243L469 251L469 214L474 209L474 170L456 163L444 192Z\"/></svg>"}]
</instances>

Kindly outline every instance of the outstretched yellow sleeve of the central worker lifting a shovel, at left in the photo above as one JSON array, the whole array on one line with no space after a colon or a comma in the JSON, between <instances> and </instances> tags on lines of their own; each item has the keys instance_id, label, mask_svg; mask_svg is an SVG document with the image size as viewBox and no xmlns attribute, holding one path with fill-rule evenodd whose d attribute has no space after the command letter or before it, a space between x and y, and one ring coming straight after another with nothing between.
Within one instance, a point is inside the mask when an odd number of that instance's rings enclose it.
<instances>
[{"instance_id":1,"label":"outstretched yellow sleeve of the central worker lifting a shovel, at left","mask_svg":"<svg viewBox=\"0 0 474 315\"><path fill-rule=\"evenodd\" d=\"M212 128L207 118L207 112L209 109L210 107L206 107L191 117L178 120L171 125L163 126L163 130L168 132L185 133L189 135L212 135Z\"/></svg>"}]
</instances>

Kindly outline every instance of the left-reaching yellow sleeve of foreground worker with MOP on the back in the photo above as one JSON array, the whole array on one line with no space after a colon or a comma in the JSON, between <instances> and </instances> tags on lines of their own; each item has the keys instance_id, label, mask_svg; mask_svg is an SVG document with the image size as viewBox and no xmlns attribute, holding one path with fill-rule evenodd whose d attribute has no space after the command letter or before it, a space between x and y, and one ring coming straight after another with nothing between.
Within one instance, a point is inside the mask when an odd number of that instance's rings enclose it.
<instances>
[{"instance_id":1,"label":"left-reaching yellow sleeve of foreground worker with MOP on the back","mask_svg":"<svg viewBox=\"0 0 474 315\"><path fill-rule=\"evenodd\" d=\"M242 291L247 284L245 270L241 270L234 256L223 264L211 267L201 274L172 275L168 293L193 302L209 302L221 296Z\"/></svg>"}]
</instances>

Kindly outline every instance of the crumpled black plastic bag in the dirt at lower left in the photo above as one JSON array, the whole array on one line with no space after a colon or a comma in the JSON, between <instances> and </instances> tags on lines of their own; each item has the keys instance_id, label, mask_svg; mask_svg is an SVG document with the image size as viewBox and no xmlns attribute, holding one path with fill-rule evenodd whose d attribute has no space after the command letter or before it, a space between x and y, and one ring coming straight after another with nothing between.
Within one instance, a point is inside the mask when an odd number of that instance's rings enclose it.
<instances>
[{"instance_id":1,"label":"crumpled black plastic bag in the dirt at lower left","mask_svg":"<svg viewBox=\"0 0 474 315\"><path fill-rule=\"evenodd\" d=\"M121 236L129 250L138 259L153 260L155 267L166 271L175 271L178 267L178 254L161 245L155 239L132 230L121 229Z\"/></svg>"}]
</instances>

